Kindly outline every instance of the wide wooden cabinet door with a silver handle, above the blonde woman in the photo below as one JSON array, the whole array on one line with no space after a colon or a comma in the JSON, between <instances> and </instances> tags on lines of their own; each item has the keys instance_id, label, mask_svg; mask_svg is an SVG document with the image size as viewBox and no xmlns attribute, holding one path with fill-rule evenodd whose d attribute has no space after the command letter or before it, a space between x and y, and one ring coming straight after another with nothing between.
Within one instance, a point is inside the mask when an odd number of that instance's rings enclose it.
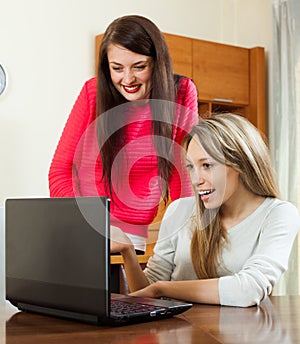
<instances>
[{"instance_id":1,"label":"wide wooden cabinet door with a silver handle, above the blonde woman","mask_svg":"<svg viewBox=\"0 0 300 344\"><path fill-rule=\"evenodd\" d=\"M193 80L201 100L248 105L248 49L193 40Z\"/></svg>"}]
</instances>

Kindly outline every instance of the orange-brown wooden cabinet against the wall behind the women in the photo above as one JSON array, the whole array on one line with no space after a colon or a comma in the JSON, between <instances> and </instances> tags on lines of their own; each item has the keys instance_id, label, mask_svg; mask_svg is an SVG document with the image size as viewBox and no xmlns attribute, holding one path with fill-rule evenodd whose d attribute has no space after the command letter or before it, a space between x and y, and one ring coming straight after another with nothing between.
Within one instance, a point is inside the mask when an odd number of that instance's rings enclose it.
<instances>
[{"instance_id":1,"label":"orange-brown wooden cabinet against the wall behind the women","mask_svg":"<svg viewBox=\"0 0 300 344\"><path fill-rule=\"evenodd\" d=\"M96 69L103 34L96 36ZM197 86L199 115L234 112L266 135L265 52L164 33L174 72Z\"/></svg>"}]
</instances>

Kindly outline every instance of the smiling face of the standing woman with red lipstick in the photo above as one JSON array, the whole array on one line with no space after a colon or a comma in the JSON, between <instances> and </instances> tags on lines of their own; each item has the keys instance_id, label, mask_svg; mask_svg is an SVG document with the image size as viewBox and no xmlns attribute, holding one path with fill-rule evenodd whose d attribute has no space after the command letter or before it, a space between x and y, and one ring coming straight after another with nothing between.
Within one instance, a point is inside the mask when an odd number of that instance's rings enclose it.
<instances>
[{"instance_id":1,"label":"smiling face of the standing woman with red lipstick","mask_svg":"<svg viewBox=\"0 0 300 344\"><path fill-rule=\"evenodd\" d=\"M148 99L152 88L152 57L110 44L107 58L112 82L128 101Z\"/></svg>"}]
</instances>

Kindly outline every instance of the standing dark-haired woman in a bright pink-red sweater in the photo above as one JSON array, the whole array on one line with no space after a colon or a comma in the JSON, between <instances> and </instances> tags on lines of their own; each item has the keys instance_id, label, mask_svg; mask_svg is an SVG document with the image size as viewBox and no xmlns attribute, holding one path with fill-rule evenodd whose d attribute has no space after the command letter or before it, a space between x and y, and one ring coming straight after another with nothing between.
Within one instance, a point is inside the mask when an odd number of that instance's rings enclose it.
<instances>
[{"instance_id":1,"label":"standing dark-haired woman in a bright pink-red sweater","mask_svg":"<svg viewBox=\"0 0 300 344\"><path fill-rule=\"evenodd\" d=\"M136 15L114 20L97 77L83 86L56 148L51 197L110 197L111 224L144 251L160 201L192 194L180 144L197 121L195 85L173 74L157 26Z\"/></svg>"}]
</instances>

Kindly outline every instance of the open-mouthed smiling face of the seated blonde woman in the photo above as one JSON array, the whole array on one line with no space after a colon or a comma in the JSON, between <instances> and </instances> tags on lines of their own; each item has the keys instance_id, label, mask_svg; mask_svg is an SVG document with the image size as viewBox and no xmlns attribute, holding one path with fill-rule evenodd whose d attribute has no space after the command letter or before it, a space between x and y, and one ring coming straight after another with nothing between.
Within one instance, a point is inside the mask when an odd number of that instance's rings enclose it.
<instances>
[{"instance_id":1,"label":"open-mouthed smiling face of the seated blonde woman","mask_svg":"<svg viewBox=\"0 0 300 344\"><path fill-rule=\"evenodd\" d=\"M186 167L205 208L215 209L239 197L239 173L209 156L197 137L188 146Z\"/></svg>"}]
</instances>

